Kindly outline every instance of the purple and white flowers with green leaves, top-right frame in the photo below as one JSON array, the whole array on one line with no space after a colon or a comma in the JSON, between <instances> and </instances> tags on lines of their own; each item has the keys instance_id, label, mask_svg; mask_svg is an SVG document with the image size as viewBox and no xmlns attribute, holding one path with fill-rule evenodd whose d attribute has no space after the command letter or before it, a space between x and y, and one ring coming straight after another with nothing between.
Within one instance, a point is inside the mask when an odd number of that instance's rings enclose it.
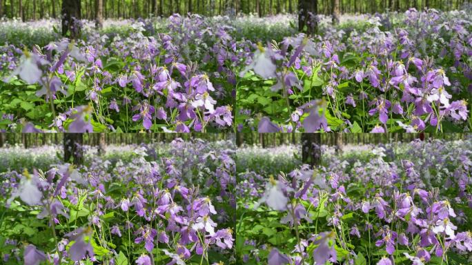
<instances>
[{"instance_id":1,"label":"purple and white flowers with green leaves, top-right frame","mask_svg":"<svg viewBox=\"0 0 472 265\"><path fill-rule=\"evenodd\" d=\"M344 17L259 43L237 81L239 130L470 131L471 9ZM348 21L346 21L348 19Z\"/></svg>"}]
</instances>

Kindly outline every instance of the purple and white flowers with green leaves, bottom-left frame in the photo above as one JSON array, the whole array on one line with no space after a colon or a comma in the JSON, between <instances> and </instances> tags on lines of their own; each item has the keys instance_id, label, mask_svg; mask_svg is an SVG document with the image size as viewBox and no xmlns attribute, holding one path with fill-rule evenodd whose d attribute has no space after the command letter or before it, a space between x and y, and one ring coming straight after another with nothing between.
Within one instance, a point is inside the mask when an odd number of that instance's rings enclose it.
<instances>
[{"instance_id":1,"label":"purple and white flowers with green leaves, bottom-left frame","mask_svg":"<svg viewBox=\"0 0 472 265\"><path fill-rule=\"evenodd\" d=\"M175 139L110 147L106 156L84 148L83 166L52 164L46 171L25 164L0 173L2 264L234 259L230 141ZM31 157L42 150L30 149Z\"/></svg>"}]
</instances>

